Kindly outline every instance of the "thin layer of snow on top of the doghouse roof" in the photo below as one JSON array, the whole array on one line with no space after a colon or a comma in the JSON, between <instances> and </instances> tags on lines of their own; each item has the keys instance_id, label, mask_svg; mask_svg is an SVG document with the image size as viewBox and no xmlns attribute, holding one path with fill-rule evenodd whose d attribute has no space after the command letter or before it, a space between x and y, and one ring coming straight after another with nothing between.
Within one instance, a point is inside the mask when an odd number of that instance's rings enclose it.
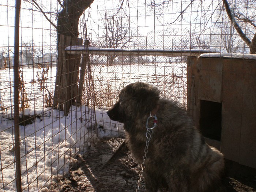
<instances>
[{"instance_id":1,"label":"thin layer of snow on top of the doghouse roof","mask_svg":"<svg viewBox=\"0 0 256 192\"><path fill-rule=\"evenodd\" d=\"M203 53L200 57L225 57L235 59L254 59L256 60L256 54L244 54L244 53Z\"/></svg>"}]
</instances>

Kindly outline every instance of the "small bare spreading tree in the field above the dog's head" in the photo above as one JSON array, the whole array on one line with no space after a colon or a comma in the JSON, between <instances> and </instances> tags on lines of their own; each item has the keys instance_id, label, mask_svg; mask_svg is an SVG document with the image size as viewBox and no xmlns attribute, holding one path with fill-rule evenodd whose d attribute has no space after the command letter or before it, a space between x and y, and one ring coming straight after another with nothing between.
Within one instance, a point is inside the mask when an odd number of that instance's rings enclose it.
<instances>
[{"instance_id":1,"label":"small bare spreading tree in the field above the dog's head","mask_svg":"<svg viewBox=\"0 0 256 192\"><path fill-rule=\"evenodd\" d=\"M102 15L102 35L98 36L99 46L102 48L129 48L131 44L135 44L137 30L130 27L130 20L122 12L117 12L113 15L108 11ZM107 60L109 65L114 63L116 55L108 55Z\"/></svg>"}]
</instances>

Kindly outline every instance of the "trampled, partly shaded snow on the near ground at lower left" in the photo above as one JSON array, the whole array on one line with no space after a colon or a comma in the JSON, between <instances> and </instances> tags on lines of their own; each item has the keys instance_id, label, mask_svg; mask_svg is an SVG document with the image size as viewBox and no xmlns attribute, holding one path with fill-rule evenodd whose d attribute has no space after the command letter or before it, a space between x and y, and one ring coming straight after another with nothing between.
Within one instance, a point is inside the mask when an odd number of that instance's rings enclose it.
<instances>
[{"instance_id":1,"label":"trampled, partly shaded snow on the near ground at lower left","mask_svg":"<svg viewBox=\"0 0 256 192\"><path fill-rule=\"evenodd\" d=\"M70 111L65 117L63 112L49 109L42 121L36 118L33 124L20 126L20 160L24 191L38 191L41 188L47 191L51 181L57 181L57 178L67 173L76 161L74 157L86 153L87 146L90 146L93 138L95 139L94 124L91 123L93 120L90 120L94 111L85 106L72 106ZM105 110L95 112L99 137L124 134L123 125L110 122ZM33 110L26 109L25 114L31 115ZM13 121L2 117L0 178L3 177L3 180L0 180L0 191L16 191L13 133Z\"/></svg>"}]
</instances>

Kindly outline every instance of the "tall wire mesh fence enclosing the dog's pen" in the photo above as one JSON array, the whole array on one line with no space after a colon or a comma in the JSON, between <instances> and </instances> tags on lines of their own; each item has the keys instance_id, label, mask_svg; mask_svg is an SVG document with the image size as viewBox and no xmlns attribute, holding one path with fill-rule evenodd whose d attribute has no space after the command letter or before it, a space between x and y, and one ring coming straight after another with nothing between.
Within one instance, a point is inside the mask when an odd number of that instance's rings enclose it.
<instances>
[{"instance_id":1,"label":"tall wire mesh fence enclosing the dog's pen","mask_svg":"<svg viewBox=\"0 0 256 192\"><path fill-rule=\"evenodd\" d=\"M123 135L122 125L111 122L105 110L127 84L148 82L163 97L187 107L187 55L152 50L255 54L255 5L255 0L24 0L16 26L15 74L15 1L2 0L0 191L16 191L15 118L22 191L47 191L96 138ZM60 45L62 35L65 43ZM72 57L65 52L66 46L83 45L84 39L88 47L133 49L138 54L84 50ZM15 75L19 103L14 103ZM19 117L14 116L15 104Z\"/></svg>"}]
</instances>

